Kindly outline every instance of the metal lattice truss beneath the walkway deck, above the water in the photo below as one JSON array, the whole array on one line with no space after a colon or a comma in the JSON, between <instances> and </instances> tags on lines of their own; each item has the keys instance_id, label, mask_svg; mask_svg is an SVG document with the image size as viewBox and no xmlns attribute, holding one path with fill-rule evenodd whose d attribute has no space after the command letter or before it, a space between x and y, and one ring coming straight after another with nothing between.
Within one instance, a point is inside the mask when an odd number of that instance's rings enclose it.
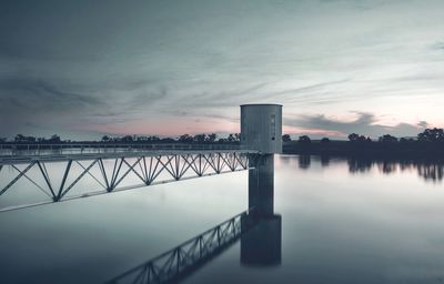
<instances>
[{"instance_id":1,"label":"metal lattice truss beneath the walkway deck, above the water","mask_svg":"<svg viewBox=\"0 0 444 284\"><path fill-rule=\"evenodd\" d=\"M119 192L131 190L159 183L168 183L172 181L193 179L205 175L221 174L226 172L242 171L249 169L249 153L244 151L202 151L201 153L159 153L149 155L143 153L131 153L130 156L119 155L71 155L63 158L42 158L32 160L16 160L16 162L8 162L0 164L0 173L6 166L10 166L17 172L17 175L0 189L1 195L7 193L20 180L30 181L38 190L48 196L47 201L21 204L0 209L0 212L23 209L29 206L42 205L53 202L61 202L72 199L87 197L98 194ZM129 161L129 160L132 161ZM104 161L112 161L112 171ZM134 161L135 160L135 161ZM65 162L63 169L61 183L56 186L51 174L49 174L47 163ZM24 169L19 169L18 164L26 164ZM73 165L78 165L81 172L72 171ZM38 175L43 178L44 183L39 184L36 180L38 176L30 176L28 172L32 169L38 169ZM100 171L95 171L99 168ZM94 170L94 171L93 171ZM108 171L107 171L108 170ZM3 170L4 171L4 170ZM160 174L163 174L160 179ZM120 186L121 183L128 179L129 174L133 173L138 176L140 184L131 186ZM88 193L77 194L75 185L84 176L91 176L100 186L100 191L88 191ZM70 181L70 182L68 182ZM68 195L68 193L70 193Z\"/></svg>"}]
</instances>

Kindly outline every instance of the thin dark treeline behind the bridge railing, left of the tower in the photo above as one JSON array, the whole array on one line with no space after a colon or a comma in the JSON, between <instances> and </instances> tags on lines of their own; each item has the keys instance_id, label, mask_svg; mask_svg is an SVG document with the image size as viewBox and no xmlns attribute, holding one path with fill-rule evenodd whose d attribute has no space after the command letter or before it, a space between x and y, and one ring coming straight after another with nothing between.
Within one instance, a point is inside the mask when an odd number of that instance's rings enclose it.
<instances>
[{"instance_id":1,"label":"thin dark treeline behind the bridge railing, left of the tower","mask_svg":"<svg viewBox=\"0 0 444 284\"><path fill-rule=\"evenodd\" d=\"M231 133L228 136L218 136L215 133L211 134L183 134L178 138L160 138L157 135L123 135L112 136L103 135L101 140L93 141L71 141L62 140L60 135L53 134L50 138L36 138L31 135L17 134L12 140L0 138L0 143L19 143L19 144L58 144L58 143L239 143L240 133Z\"/></svg>"}]
</instances>

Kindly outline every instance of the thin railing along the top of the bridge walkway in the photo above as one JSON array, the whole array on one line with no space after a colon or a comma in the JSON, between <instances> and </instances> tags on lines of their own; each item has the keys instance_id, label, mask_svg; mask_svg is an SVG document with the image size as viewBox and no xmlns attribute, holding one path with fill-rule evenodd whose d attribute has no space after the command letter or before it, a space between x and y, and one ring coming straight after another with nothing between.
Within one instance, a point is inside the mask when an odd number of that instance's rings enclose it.
<instances>
[{"instance_id":1,"label":"thin railing along the top of the bridge walkway","mask_svg":"<svg viewBox=\"0 0 444 284\"><path fill-rule=\"evenodd\" d=\"M195 143L4 143L0 144L0 156L115 153L157 150L245 150L240 144Z\"/></svg>"}]
</instances>

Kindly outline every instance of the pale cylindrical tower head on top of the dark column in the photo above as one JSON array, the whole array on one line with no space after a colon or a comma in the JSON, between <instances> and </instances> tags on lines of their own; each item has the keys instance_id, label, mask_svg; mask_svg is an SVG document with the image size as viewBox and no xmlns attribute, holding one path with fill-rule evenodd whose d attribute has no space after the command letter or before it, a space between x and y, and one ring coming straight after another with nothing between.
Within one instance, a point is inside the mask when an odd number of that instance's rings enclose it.
<instances>
[{"instance_id":1,"label":"pale cylindrical tower head on top of the dark column","mask_svg":"<svg viewBox=\"0 0 444 284\"><path fill-rule=\"evenodd\" d=\"M282 105L242 104L241 145L263 154L282 153Z\"/></svg>"}]
</instances>

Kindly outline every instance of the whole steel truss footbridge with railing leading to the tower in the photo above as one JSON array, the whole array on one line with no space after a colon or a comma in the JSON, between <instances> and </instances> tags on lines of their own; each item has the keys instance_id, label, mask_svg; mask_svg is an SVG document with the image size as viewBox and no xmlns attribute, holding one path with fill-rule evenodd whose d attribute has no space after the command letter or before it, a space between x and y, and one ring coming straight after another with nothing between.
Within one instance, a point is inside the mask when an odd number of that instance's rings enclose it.
<instances>
[{"instance_id":1,"label":"whole steel truss footbridge with railing leading to the tower","mask_svg":"<svg viewBox=\"0 0 444 284\"><path fill-rule=\"evenodd\" d=\"M0 212L249 170L249 159L259 153L216 144L16 144L3 150L7 152L0 155L0 176L7 166L16 174L9 172L10 181L0 187L0 196L27 180L44 200L4 206ZM87 176L99 190L79 189ZM127 182L134 179L139 182Z\"/></svg>"}]
</instances>

